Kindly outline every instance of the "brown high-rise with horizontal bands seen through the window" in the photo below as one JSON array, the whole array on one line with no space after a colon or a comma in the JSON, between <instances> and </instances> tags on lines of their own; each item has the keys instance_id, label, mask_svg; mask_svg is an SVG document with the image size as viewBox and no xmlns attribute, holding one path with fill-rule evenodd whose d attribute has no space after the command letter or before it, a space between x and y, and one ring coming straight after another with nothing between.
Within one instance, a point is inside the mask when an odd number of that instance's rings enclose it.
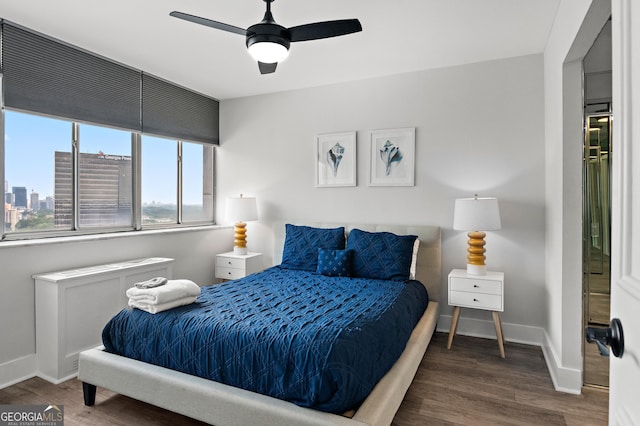
<instances>
[{"instance_id":1,"label":"brown high-rise with horizontal bands seen through the window","mask_svg":"<svg viewBox=\"0 0 640 426\"><path fill-rule=\"evenodd\" d=\"M81 226L131 224L131 157L125 155L79 154L79 223ZM72 225L71 153L55 153L56 228Z\"/></svg>"}]
</instances>

